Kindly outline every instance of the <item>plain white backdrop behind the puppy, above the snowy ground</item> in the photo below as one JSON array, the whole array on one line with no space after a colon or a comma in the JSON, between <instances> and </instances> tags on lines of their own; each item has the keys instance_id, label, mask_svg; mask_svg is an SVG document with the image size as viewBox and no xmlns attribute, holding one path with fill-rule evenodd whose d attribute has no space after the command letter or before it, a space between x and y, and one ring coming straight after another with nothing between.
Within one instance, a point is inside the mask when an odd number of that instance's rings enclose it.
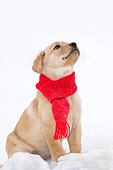
<instances>
[{"instance_id":1,"label":"plain white backdrop behind the puppy, above the snowy ground","mask_svg":"<svg viewBox=\"0 0 113 170\"><path fill-rule=\"evenodd\" d=\"M112 0L0 0L0 164L5 141L35 98L39 50L54 41L76 42L83 138L113 137Z\"/></svg>"}]
</instances>

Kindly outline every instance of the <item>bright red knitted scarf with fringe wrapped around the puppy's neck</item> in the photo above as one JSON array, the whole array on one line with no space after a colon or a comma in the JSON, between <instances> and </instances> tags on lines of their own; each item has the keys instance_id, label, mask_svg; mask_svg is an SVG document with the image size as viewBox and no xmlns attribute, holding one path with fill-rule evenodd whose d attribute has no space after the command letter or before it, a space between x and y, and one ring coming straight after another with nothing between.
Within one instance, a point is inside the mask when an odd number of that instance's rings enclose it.
<instances>
[{"instance_id":1,"label":"bright red knitted scarf with fringe wrapped around the puppy's neck","mask_svg":"<svg viewBox=\"0 0 113 170\"><path fill-rule=\"evenodd\" d=\"M51 80L41 74L36 88L52 104L53 117L56 122L54 140L69 137L70 126L67 123L67 117L70 105L66 97L73 95L77 91L75 72L58 80Z\"/></svg>"}]
</instances>

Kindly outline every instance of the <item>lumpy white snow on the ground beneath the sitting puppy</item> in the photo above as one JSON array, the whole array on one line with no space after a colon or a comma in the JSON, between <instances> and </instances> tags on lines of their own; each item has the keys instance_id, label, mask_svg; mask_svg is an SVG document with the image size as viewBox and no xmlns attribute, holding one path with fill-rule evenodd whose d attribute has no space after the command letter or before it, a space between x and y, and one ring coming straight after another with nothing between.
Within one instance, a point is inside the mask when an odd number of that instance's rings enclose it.
<instances>
[{"instance_id":1,"label":"lumpy white snow on the ground beneath the sitting puppy","mask_svg":"<svg viewBox=\"0 0 113 170\"><path fill-rule=\"evenodd\" d=\"M113 138L86 139L81 154L67 154L58 163L44 161L38 155L16 153L2 168L3 170L113 170Z\"/></svg>"}]
</instances>

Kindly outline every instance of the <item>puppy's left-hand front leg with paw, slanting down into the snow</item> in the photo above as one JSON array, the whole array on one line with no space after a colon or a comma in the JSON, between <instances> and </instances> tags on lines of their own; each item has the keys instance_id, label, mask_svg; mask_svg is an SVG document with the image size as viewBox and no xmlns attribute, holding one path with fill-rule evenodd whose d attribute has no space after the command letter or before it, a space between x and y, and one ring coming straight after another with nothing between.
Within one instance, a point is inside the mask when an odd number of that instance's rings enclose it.
<instances>
[{"instance_id":1,"label":"puppy's left-hand front leg with paw, slanting down into the snow","mask_svg":"<svg viewBox=\"0 0 113 170\"><path fill-rule=\"evenodd\" d=\"M52 126L45 126L44 133L46 142L51 152L51 156L54 161L58 161L60 156L66 155L65 150L63 149L60 140L54 140L54 128Z\"/></svg>"}]
</instances>

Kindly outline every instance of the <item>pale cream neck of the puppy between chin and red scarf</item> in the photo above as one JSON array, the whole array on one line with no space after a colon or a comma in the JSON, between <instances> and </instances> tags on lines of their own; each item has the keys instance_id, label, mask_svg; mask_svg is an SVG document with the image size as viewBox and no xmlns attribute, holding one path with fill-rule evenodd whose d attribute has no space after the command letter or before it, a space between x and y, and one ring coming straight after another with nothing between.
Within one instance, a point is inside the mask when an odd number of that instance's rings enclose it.
<instances>
[{"instance_id":1,"label":"pale cream neck of the puppy between chin and red scarf","mask_svg":"<svg viewBox=\"0 0 113 170\"><path fill-rule=\"evenodd\" d=\"M51 80L58 80L62 77L66 77L73 72L72 66L65 66L65 67L59 67L59 68L52 68L52 67L44 67L42 74L44 74L46 77L50 78Z\"/></svg>"}]
</instances>

